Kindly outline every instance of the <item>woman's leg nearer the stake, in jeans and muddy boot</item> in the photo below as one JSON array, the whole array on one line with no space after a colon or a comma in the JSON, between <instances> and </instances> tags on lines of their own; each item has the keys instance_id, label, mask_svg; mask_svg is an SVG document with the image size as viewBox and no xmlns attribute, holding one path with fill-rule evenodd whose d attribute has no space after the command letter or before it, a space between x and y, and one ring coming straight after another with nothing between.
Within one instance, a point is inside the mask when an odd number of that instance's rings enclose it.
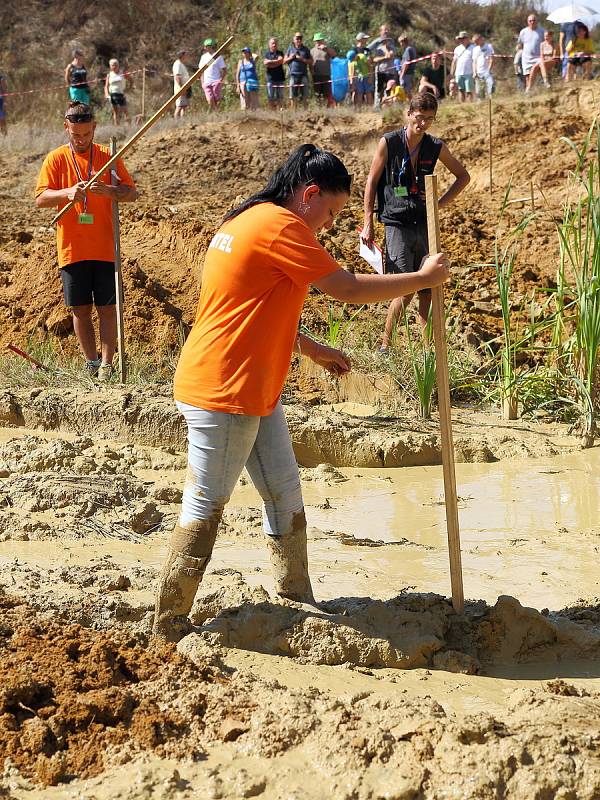
<instances>
[{"instance_id":1,"label":"woman's leg nearer the stake, in jeans and muddy boot","mask_svg":"<svg viewBox=\"0 0 600 800\"><path fill-rule=\"evenodd\" d=\"M246 464L263 499L263 527L278 594L290 600L312 601L306 546L306 517L300 476L292 442L278 403L262 417Z\"/></svg>"}]
</instances>

